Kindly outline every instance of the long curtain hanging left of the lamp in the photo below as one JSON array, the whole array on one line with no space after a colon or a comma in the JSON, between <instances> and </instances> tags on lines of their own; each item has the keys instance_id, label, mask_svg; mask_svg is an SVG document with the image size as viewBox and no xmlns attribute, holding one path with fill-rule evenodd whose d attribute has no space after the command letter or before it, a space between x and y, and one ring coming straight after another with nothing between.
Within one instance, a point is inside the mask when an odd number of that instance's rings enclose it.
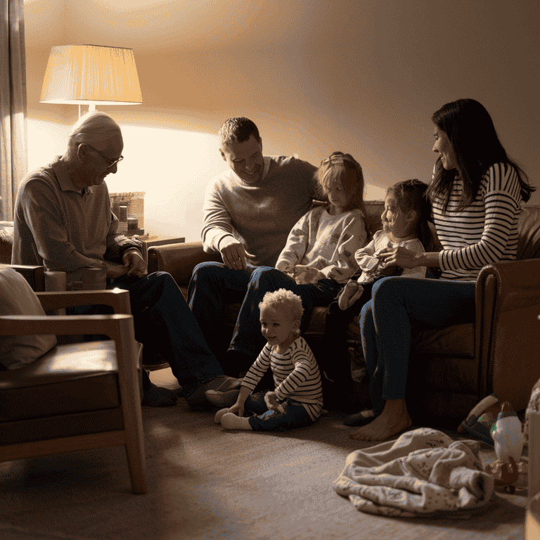
<instances>
[{"instance_id":1,"label":"long curtain hanging left of the lamp","mask_svg":"<svg viewBox=\"0 0 540 540\"><path fill-rule=\"evenodd\" d=\"M28 167L24 8L23 0L0 0L0 6L0 221L12 221Z\"/></svg>"}]
</instances>

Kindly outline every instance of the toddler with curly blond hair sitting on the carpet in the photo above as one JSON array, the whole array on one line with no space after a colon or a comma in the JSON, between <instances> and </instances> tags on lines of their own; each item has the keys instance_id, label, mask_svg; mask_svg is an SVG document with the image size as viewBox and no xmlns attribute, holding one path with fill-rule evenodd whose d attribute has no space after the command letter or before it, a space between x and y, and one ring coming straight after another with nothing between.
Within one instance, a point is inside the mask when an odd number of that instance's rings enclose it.
<instances>
[{"instance_id":1,"label":"toddler with curly blond hair sitting on the carpet","mask_svg":"<svg viewBox=\"0 0 540 540\"><path fill-rule=\"evenodd\" d=\"M259 309L267 343L246 373L236 404L217 411L215 421L228 430L304 428L321 416L323 392L319 366L307 342L298 335L302 300L282 288L266 293ZM274 375L275 389L251 394L268 368ZM252 416L244 417L245 412Z\"/></svg>"}]
</instances>

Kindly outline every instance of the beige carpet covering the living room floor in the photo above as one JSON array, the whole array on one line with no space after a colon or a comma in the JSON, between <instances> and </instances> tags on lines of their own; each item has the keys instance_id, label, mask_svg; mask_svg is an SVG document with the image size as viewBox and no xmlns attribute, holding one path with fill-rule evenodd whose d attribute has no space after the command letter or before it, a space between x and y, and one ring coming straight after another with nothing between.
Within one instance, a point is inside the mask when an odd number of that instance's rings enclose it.
<instances>
[{"instance_id":1,"label":"beige carpet covering the living room floor","mask_svg":"<svg viewBox=\"0 0 540 540\"><path fill-rule=\"evenodd\" d=\"M150 378L177 387L169 369ZM143 407L148 494L131 493L121 447L0 463L0 539L523 539L527 493L519 489L468 520L355 510L332 488L362 447L342 416L264 434L222 430L183 399ZM482 461L493 459L485 445Z\"/></svg>"}]
</instances>

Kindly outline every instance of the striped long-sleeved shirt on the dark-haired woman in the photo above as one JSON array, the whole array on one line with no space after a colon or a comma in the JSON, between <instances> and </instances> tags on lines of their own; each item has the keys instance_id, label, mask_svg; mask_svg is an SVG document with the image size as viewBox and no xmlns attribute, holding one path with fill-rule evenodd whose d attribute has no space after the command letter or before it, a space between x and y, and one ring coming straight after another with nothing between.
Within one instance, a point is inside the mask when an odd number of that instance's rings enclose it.
<instances>
[{"instance_id":1,"label":"striped long-sleeved shirt on the dark-haired woman","mask_svg":"<svg viewBox=\"0 0 540 540\"><path fill-rule=\"evenodd\" d=\"M491 165L473 203L457 212L463 179L454 180L446 214L432 201L433 219L442 244L439 264L443 279L474 281L486 264L514 260L521 213L520 181L508 163Z\"/></svg>"}]
</instances>

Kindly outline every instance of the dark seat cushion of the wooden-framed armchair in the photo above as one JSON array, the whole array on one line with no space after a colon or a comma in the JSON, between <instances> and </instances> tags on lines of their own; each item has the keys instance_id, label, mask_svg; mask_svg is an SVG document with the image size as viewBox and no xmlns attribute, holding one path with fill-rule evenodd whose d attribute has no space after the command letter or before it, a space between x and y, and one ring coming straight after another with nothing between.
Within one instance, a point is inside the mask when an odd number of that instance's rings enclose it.
<instances>
[{"instance_id":1,"label":"dark seat cushion of the wooden-framed armchair","mask_svg":"<svg viewBox=\"0 0 540 540\"><path fill-rule=\"evenodd\" d=\"M119 407L117 379L112 340L57 345L32 364L0 373L0 422Z\"/></svg>"}]
</instances>

